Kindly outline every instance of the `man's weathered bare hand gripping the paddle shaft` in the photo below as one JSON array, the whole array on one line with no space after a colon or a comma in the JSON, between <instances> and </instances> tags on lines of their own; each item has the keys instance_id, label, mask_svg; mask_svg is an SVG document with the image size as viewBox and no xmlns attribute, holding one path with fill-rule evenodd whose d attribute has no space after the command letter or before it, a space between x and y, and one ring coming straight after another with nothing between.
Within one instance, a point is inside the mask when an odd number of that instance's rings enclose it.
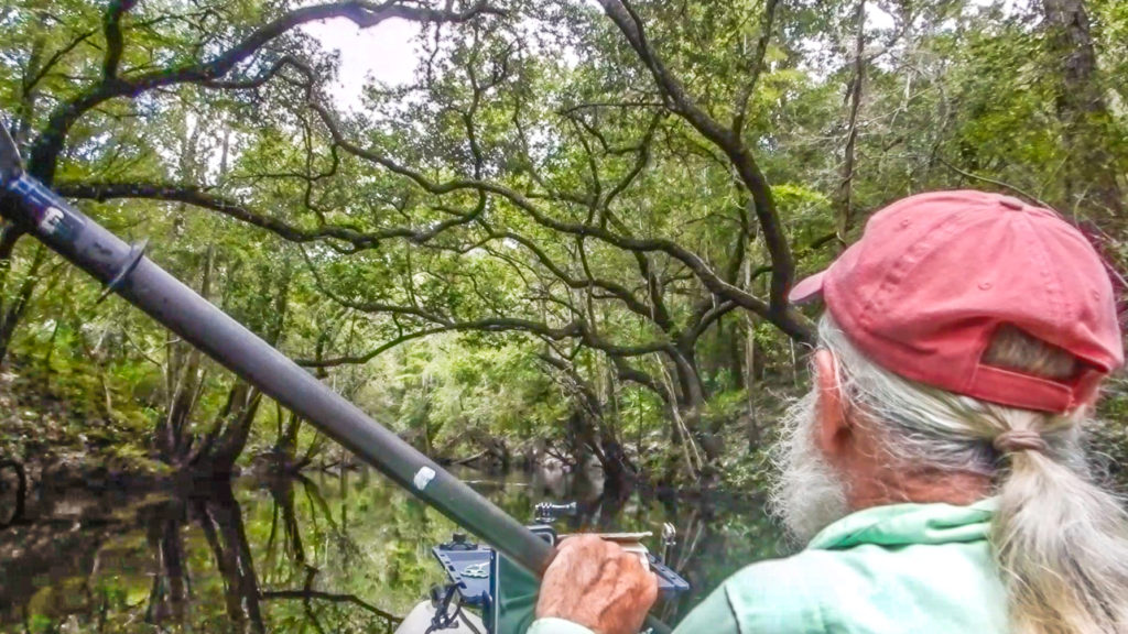
<instances>
[{"instance_id":1,"label":"man's weathered bare hand gripping the paddle shaft","mask_svg":"<svg viewBox=\"0 0 1128 634\"><path fill-rule=\"evenodd\" d=\"M556 548L540 582L537 618L564 618L596 634L637 634L656 598L658 578L637 555L580 535Z\"/></svg>"}]
</instances>

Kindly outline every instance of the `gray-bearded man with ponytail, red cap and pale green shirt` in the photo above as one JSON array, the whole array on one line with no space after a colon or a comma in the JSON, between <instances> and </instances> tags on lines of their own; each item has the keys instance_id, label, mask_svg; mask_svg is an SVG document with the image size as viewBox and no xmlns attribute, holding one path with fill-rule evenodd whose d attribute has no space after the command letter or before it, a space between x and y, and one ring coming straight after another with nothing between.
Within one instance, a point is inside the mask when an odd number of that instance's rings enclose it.
<instances>
[{"instance_id":1,"label":"gray-bearded man with ponytail, red cap and pale green shirt","mask_svg":"<svg viewBox=\"0 0 1128 634\"><path fill-rule=\"evenodd\" d=\"M792 291L813 296L814 387L774 492L807 548L738 572L678 632L1128 632L1128 521L1082 447L1123 361L1085 238L1007 196L913 196ZM654 583L569 539L529 632L637 632Z\"/></svg>"}]
</instances>

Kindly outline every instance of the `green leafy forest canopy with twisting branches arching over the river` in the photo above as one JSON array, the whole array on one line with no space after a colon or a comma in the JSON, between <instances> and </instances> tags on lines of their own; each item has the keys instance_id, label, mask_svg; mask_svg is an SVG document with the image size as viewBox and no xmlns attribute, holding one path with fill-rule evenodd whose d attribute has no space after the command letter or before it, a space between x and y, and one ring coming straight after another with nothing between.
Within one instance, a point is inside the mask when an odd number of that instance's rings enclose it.
<instances>
[{"instance_id":1,"label":"green leafy forest canopy with twisting branches arching over the river","mask_svg":"<svg viewBox=\"0 0 1128 634\"><path fill-rule=\"evenodd\" d=\"M1108 180L1063 168L1103 156L1122 180L1122 2L1084 6L1095 138L1064 111L1059 61L1086 51L1036 5L866 5L858 77L856 3L635 2L679 102L593 5L499 0L423 29L414 80L351 111L299 3L141 2L116 23L114 6L0 17L0 113L32 169L435 455L540 440L618 442L658 470L698 448L759 464L743 421L803 363L773 280L822 268L908 193L1025 192L1126 259L1125 224L1085 194ZM98 293L20 240L0 271L14 371L67 403L68 438L141 457L187 368L187 432L205 434L236 380ZM261 408L253 452L283 444L282 419ZM305 425L288 450L318 442Z\"/></svg>"}]
</instances>

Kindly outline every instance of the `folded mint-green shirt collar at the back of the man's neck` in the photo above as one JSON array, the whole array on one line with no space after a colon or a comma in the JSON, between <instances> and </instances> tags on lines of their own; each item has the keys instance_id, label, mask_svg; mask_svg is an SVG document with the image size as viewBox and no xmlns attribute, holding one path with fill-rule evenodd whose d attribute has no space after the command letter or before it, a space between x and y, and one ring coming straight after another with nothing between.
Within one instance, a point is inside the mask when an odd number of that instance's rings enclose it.
<instances>
[{"instance_id":1,"label":"folded mint-green shirt collar at the back of the man's neck","mask_svg":"<svg viewBox=\"0 0 1128 634\"><path fill-rule=\"evenodd\" d=\"M997 500L988 497L968 507L953 504L890 504L873 507L823 528L807 545L834 551L861 544L904 546L978 541L990 534Z\"/></svg>"}]
</instances>

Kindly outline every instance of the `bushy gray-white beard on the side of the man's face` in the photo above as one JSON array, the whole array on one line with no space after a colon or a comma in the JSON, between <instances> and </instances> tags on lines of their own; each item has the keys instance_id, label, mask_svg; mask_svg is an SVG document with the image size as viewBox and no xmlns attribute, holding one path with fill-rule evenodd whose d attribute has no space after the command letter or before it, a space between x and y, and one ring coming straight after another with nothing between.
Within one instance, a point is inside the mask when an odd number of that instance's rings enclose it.
<instances>
[{"instance_id":1,"label":"bushy gray-white beard on the side of the man's face","mask_svg":"<svg viewBox=\"0 0 1128 634\"><path fill-rule=\"evenodd\" d=\"M776 476L769 508L796 543L849 514L846 484L816 444L817 391L792 403L783 415L782 439L773 450Z\"/></svg>"}]
</instances>

